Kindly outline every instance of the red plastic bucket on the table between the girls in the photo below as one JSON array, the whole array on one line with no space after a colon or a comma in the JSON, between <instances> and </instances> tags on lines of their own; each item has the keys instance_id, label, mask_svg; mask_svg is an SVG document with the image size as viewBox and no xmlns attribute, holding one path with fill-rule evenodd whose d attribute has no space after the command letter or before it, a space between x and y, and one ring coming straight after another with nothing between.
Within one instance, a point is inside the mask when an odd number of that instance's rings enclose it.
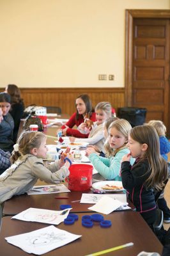
<instances>
[{"instance_id":1,"label":"red plastic bucket on the table between the girls","mask_svg":"<svg viewBox=\"0 0 170 256\"><path fill-rule=\"evenodd\" d=\"M92 185L93 166L91 164L72 164L70 175L66 178L71 191L86 191Z\"/></svg>"}]
</instances>

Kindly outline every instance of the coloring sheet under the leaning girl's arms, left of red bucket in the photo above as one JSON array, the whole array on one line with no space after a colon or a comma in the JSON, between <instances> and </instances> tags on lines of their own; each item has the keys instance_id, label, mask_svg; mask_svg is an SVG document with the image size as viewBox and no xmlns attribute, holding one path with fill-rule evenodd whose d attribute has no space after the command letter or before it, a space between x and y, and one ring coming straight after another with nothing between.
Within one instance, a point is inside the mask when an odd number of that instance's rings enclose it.
<instances>
[{"instance_id":1,"label":"coloring sheet under the leaning girl's arms, left of red bucket","mask_svg":"<svg viewBox=\"0 0 170 256\"><path fill-rule=\"evenodd\" d=\"M54 194L70 192L64 184L34 186L27 191L27 195Z\"/></svg>"}]
</instances>

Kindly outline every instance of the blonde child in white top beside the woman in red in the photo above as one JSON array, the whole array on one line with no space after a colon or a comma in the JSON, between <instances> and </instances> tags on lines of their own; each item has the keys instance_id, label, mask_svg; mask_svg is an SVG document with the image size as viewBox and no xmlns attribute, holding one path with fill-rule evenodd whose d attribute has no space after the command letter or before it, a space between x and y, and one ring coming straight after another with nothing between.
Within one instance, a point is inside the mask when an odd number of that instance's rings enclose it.
<instances>
[{"instance_id":1,"label":"blonde child in white top beside the woman in red","mask_svg":"<svg viewBox=\"0 0 170 256\"><path fill-rule=\"evenodd\" d=\"M104 132L103 124L107 118L111 117L112 107L109 102L99 102L95 108L97 122L93 123L91 131L88 128L86 122L79 125L77 128L82 134L89 134L88 138L75 138L70 137L71 142L88 142L91 145L97 146L98 150L102 151L104 148Z\"/></svg>"}]
</instances>

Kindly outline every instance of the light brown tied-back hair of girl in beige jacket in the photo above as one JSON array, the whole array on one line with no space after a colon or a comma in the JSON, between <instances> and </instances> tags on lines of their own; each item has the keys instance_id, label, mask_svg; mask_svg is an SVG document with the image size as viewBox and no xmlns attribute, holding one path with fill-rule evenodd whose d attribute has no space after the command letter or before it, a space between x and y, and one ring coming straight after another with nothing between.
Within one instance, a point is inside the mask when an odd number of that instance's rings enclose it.
<instances>
[{"instance_id":1,"label":"light brown tied-back hair of girl in beige jacket","mask_svg":"<svg viewBox=\"0 0 170 256\"><path fill-rule=\"evenodd\" d=\"M11 162L15 163L20 156L30 154L30 150L33 148L39 148L45 134L35 131L24 131L20 134L17 144L19 145L19 151L13 150L11 156Z\"/></svg>"}]
</instances>

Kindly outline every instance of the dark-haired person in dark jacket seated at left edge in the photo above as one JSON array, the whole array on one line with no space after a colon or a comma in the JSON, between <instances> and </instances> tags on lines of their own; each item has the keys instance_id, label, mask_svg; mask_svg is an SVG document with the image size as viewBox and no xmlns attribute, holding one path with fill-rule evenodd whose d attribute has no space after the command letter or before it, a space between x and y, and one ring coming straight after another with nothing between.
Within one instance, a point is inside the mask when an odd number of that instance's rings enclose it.
<instances>
[{"instance_id":1,"label":"dark-haired person in dark jacket seated at left edge","mask_svg":"<svg viewBox=\"0 0 170 256\"><path fill-rule=\"evenodd\" d=\"M5 152L13 150L13 118L9 110L11 106L11 97L8 93L0 93L0 107L3 111L3 120L0 124L0 148Z\"/></svg>"}]
</instances>

